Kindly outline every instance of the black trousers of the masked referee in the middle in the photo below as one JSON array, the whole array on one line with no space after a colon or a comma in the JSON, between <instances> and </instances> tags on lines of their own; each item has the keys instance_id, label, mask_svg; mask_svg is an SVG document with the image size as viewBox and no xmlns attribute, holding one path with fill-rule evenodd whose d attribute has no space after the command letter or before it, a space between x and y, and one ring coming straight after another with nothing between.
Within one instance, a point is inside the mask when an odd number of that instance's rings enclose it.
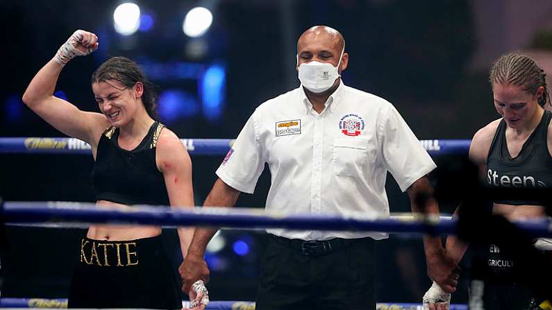
<instances>
[{"instance_id":1,"label":"black trousers of the masked referee in the middle","mask_svg":"<svg viewBox=\"0 0 552 310\"><path fill-rule=\"evenodd\" d=\"M333 239L312 253L298 239L267 240L257 310L376 309L374 239Z\"/></svg>"}]
</instances>

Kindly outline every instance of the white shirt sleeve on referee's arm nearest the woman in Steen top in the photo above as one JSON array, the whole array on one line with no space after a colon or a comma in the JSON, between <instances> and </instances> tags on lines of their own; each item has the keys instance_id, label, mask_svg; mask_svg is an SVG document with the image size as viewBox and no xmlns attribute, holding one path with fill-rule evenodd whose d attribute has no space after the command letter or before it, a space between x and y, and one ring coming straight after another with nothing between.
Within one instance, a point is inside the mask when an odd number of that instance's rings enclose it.
<instances>
[{"instance_id":1,"label":"white shirt sleeve on referee's arm nearest the woman in Steen top","mask_svg":"<svg viewBox=\"0 0 552 310\"><path fill-rule=\"evenodd\" d=\"M380 114L376 129L380 155L401 191L406 191L412 183L437 166L401 114L393 105L387 104Z\"/></svg>"}]
</instances>

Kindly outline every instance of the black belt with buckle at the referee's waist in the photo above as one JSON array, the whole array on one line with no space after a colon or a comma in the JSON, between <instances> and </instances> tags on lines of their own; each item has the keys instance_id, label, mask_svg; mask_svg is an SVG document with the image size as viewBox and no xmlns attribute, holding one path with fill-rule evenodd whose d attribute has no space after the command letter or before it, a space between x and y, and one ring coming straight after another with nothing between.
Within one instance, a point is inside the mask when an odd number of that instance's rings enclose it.
<instances>
[{"instance_id":1,"label":"black belt with buckle at the referee's waist","mask_svg":"<svg viewBox=\"0 0 552 310\"><path fill-rule=\"evenodd\" d=\"M359 239L341 239L341 238L334 238L330 240L324 240L324 241L305 241L301 239L287 239L283 236L274 236L273 234L270 234L276 241L279 243L283 243L290 248L294 248L296 250L300 250L301 254L307 255L307 256L319 256L324 255L329 252L333 252L335 250L339 250L341 248L345 248L346 246L351 245L352 243L357 243L358 241L367 241L367 239L371 239L369 237L366 238L359 238Z\"/></svg>"}]
</instances>

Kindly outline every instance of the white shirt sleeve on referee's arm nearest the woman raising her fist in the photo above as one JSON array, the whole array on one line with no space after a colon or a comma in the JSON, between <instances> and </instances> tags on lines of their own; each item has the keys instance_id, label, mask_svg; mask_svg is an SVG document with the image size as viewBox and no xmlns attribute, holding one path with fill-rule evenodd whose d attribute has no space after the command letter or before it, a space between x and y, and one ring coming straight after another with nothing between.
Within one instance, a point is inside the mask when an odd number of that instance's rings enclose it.
<instances>
[{"instance_id":1,"label":"white shirt sleeve on referee's arm nearest the woman raising her fist","mask_svg":"<svg viewBox=\"0 0 552 310\"><path fill-rule=\"evenodd\" d=\"M255 191L265 168L258 137L256 113L253 113L216 172L223 182L244 193Z\"/></svg>"}]
</instances>

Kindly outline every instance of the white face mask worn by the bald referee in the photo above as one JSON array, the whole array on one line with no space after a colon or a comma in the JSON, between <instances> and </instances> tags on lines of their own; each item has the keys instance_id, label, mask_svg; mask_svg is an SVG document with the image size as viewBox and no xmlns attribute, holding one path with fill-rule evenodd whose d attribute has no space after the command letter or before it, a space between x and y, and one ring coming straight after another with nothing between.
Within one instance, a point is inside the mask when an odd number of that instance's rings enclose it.
<instances>
[{"instance_id":1,"label":"white face mask worn by the bald referee","mask_svg":"<svg viewBox=\"0 0 552 310\"><path fill-rule=\"evenodd\" d=\"M333 67L328 62L311 61L299 66L299 80L301 85L306 89L314 93L326 92L326 90L332 87L337 78L340 78L340 74L337 72L337 68L340 67L341 58L345 46L341 51L340 61L337 63L337 67ZM299 58L297 59L299 62Z\"/></svg>"}]
</instances>

